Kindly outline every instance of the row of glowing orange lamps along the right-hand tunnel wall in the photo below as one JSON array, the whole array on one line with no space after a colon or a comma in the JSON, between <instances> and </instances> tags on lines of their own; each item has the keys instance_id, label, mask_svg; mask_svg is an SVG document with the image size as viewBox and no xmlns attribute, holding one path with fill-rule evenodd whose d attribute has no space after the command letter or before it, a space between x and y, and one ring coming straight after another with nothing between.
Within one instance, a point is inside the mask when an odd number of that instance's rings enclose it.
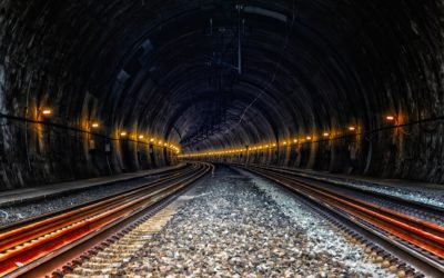
<instances>
[{"instance_id":1,"label":"row of glowing orange lamps along the right-hand tunnel wall","mask_svg":"<svg viewBox=\"0 0 444 278\"><path fill-rule=\"evenodd\" d=\"M390 122L395 122L395 125L397 125L397 117L396 116L386 116L385 120L390 121ZM356 132L359 131L359 128L355 126L350 126L347 127L347 130L351 132ZM339 133L337 133L339 135ZM332 133L330 132L323 132L322 137L324 139L333 139ZM305 141L313 141L315 140L315 137L313 136L306 136L303 139L293 139L293 145L297 145L297 143L303 143ZM292 142L291 140L289 141L283 141L281 146L286 147L286 146L291 146ZM260 146L254 146L251 148L239 148L239 149L230 149L230 150L220 150L220 151L210 151L210 152L200 152L200 153L189 153L189 155L182 155L180 156L180 158L199 158L199 157L211 157L211 156L230 156L230 155L235 155L235 153L242 153L244 151L258 151L258 150L263 150L263 149L272 149L272 148L276 148L278 145L276 143L269 143L269 145L260 145Z\"/></svg>"}]
</instances>

